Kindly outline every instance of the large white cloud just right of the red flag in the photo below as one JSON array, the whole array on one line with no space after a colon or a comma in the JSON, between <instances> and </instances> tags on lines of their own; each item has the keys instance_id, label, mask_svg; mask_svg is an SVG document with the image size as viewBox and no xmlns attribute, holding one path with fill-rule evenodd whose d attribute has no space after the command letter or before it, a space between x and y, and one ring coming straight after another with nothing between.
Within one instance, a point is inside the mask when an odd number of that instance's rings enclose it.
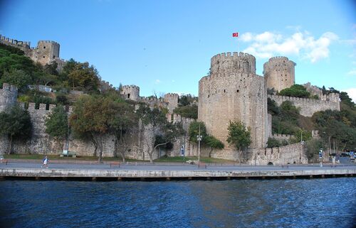
<instances>
[{"instance_id":1,"label":"large white cloud just right of the red flag","mask_svg":"<svg viewBox=\"0 0 356 228\"><path fill-rule=\"evenodd\" d=\"M305 32L295 32L285 37L280 33L266 31L261 34L243 33L241 41L251 43L244 50L257 58L271 58L273 55L298 55L312 63L330 55L329 46L334 40L338 40L335 33L323 33L316 39Z\"/></svg>"}]
</instances>

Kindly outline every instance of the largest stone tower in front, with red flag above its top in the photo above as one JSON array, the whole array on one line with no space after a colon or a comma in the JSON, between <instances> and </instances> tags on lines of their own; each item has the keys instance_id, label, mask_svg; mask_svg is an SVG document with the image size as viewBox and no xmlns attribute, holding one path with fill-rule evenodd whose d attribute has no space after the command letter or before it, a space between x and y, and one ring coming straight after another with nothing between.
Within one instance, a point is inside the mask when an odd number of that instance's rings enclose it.
<instances>
[{"instance_id":1,"label":"largest stone tower in front, with red flag above its top","mask_svg":"<svg viewBox=\"0 0 356 228\"><path fill-rule=\"evenodd\" d=\"M268 114L267 87L256 75L256 59L245 53L222 53L211 58L211 73L199 81L199 121L209 134L227 143L229 121L239 120L251 129L250 148L265 148ZM231 153L236 158L236 153ZM235 156L235 157L234 157ZM229 155L226 156L226 158Z\"/></svg>"}]
</instances>

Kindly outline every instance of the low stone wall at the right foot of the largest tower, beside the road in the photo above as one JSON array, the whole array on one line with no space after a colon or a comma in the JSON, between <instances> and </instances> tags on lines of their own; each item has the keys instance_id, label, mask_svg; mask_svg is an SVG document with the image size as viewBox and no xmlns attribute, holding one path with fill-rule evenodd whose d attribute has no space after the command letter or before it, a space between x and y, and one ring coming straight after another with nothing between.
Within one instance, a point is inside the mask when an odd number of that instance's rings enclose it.
<instances>
[{"instance_id":1,"label":"low stone wall at the right foot of the largest tower, beside the road","mask_svg":"<svg viewBox=\"0 0 356 228\"><path fill-rule=\"evenodd\" d=\"M251 150L251 165L267 165L269 162L273 165L306 164L308 158L305 156L306 147L300 143L294 143L287 146L280 146L266 149Z\"/></svg>"}]
</instances>

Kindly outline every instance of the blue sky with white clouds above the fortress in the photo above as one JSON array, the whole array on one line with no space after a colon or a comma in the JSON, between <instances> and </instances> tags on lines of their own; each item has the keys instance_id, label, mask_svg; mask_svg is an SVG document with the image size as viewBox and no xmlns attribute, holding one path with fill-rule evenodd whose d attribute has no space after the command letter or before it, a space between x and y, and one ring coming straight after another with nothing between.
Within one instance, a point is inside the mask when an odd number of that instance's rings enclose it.
<instances>
[{"instance_id":1,"label":"blue sky with white clouds above the fortress","mask_svg":"<svg viewBox=\"0 0 356 228\"><path fill-rule=\"evenodd\" d=\"M239 32L240 38L232 38ZM213 55L238 50L297 63L298 84L335 87L356 100L355 1L4 1L0 34L55 40L61 58L88 61L112 85L142 96L198 95Z\"/></svg>"}]
</instances>

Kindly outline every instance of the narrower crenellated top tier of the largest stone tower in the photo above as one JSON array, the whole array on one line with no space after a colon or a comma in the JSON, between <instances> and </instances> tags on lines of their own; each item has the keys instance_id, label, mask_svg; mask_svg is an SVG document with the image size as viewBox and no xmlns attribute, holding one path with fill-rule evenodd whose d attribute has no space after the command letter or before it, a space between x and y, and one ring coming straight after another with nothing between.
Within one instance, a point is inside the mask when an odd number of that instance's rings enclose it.
<instances>
[{"instance_id":1,"label":"narrower crenellated top tier of the largest stone tower","mask_svg":"<svg viewBox=\"0 0 356 228\"><path fill-rule=\"evenodd\" d=\"M221 53L211 58L211 74L220 72L256 73L256 58L247 53Z\"/></svg>"}]
</instances>

